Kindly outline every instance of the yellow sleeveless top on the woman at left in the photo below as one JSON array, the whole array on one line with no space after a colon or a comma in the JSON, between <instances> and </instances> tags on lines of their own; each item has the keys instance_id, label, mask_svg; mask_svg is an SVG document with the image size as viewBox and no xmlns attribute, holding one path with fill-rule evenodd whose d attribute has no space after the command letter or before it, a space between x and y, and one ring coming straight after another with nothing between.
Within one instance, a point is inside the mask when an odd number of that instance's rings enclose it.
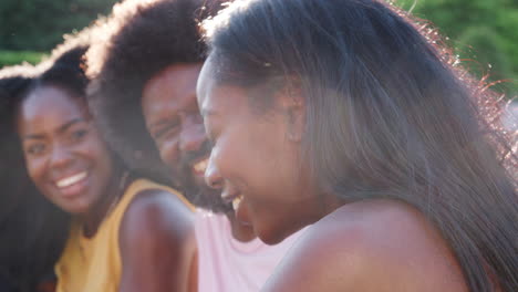
<instances>
[{"instance_id":1,"label":"yellow sleeveless top on the woman at left","mask_svg":"<svg viewBox=\"0 0 518 292\"><path fill-rule=\"evenodd\" d=\"M55 264L56 292L118 291L122 274L118 229L127 206L139 191L145 189L163 189L175 194L194 210L179 192L146 179L134 180L121 201L101 223L94 237L84 237L82 226L76 221L72 222L65 249Z\"/></svg>"}]
</instances>

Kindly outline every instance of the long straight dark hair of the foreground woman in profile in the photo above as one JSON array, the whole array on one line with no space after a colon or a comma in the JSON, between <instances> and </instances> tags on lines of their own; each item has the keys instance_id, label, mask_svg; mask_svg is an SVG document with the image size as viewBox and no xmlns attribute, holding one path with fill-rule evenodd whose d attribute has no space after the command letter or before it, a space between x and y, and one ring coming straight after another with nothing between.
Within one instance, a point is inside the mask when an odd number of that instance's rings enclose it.
<instances>
[{"instance_id":1,"label":"long straight dark hair of the foreground woman in profile","mask_svg":"<svg viewBox=\"0 0 518 292\"><path fill-rule=\"evenodd\" d=\"M238 0L203 29L218 82L301 87L304 159L321 189L414 206L470 291L518 289L516 140L435 30L376 0Z\"/></svg>"}]
</instances>

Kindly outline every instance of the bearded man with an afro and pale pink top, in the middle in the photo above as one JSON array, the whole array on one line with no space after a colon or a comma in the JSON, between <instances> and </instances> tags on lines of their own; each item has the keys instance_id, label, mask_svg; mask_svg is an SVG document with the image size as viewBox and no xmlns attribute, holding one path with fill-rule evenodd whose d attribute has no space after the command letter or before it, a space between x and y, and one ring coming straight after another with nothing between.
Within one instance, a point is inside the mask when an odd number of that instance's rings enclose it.
<instances>
[{"instance_id":1,"label":"bearded man with an afro and pale pink top, in the middle","mask_svg":"<svg viewBox=\"0 0 518 292\"><path fill-rule=\"evenodd\" d=\"M298 234L266 246L205 184L211 148L196 100L206 50L198 23L219 7L201 0L117 4L86 54L89 103L126 164L170 179L198 207L198 291L259 291Z\"/></svg>"}]
</instances>

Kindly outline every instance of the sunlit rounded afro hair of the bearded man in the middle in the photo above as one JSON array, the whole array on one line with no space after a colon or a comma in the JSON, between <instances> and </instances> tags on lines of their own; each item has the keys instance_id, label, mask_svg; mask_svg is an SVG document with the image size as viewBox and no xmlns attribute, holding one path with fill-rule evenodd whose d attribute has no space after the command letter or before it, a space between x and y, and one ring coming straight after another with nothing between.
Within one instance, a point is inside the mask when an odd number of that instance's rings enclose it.
<instances>
[{"instance_id":1,"label":"sunlit rounded afro hair of the bearded man in the middle","mask_svg":"<svg viewBox=\"0 0 518 292\"><path fill-rule=\"evenodd\" d=\"M111 147L141 175L169 180L142 113L145 83L170 64L204 61L198 20L217 7L218 1L127 0L97 22L86 53L89 104Z\"/></svg>"}]
</instances>

